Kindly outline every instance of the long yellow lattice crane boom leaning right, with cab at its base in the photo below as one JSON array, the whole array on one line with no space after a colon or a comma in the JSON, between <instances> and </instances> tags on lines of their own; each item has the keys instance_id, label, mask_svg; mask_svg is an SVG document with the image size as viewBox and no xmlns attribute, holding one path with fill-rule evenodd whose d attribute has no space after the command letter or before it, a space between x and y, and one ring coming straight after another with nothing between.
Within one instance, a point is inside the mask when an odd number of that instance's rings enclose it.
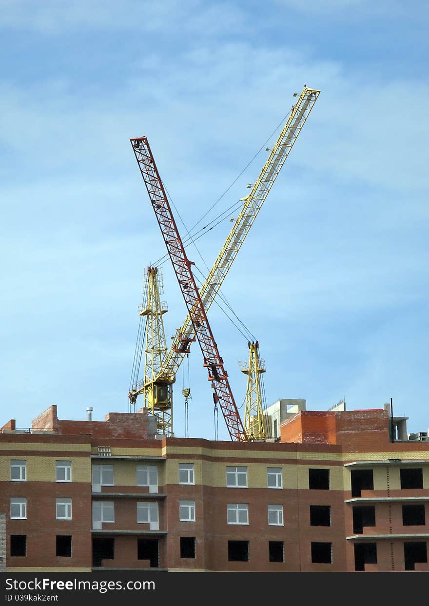
<instances>
[{"instance_id":1,"label":"long yellow lattice crane boom leaning right, with cab at its base","mask_svg":"<svg viewBox=\"0 0 429 606\"><path fill-rule=\"evenodd\" d=\"M251 186L250 193L245 196L245 198L241 198L241 200L244 201L244 204L240 214L234 222L218 258L214 262L206 281L200 289L199 294L206 312L221 288L228 270L233 264L241 245L250 231L254 219L258 216L259 210L261 210L262 204L264 204L274 181L276 181L294 142L298 138L314 103L318 99L319 93L319 90L308 88L306 85L304 85L299 96L298 93L294 93L294 96L298 97L298 99L296 103L292 105L290 115L288 116L276 143L272 148L267 148L267 151L270 152L268 159L265 162L258 179L256 179L254 185ZM182 327L176 330L176 335L173 337L173 343L162 361L161 369L159 370L158 376L155 376L153 385L159 384L161 387L165 387L166 384L172 385L175 382L176 373L185 356L190 352L190 344L192 341L195 341L195 330L190 315L188 314ZM136 398L142 393L145 393L144 385L133 385L128 394L130 401L135 402ZM172 391L170 390L169 393L171 395ZM172 405L172 400L170 400L167 405L162 404L162 407L159 410L162 410L165 413L167 408L172 408ZM157 410L156 405L154 405L153 410ZM160 433L164 432L160 431ZM171 435L171 433L166 432L164 435L168 436Z\"/></svg>"}]
</instances>

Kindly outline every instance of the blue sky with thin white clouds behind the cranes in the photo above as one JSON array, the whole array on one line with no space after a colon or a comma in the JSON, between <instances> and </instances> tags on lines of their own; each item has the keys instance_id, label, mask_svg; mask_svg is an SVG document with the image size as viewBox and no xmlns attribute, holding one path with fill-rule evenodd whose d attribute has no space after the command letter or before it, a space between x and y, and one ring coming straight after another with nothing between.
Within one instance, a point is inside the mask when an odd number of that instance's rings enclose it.
<instances>
[{"instance_id":1,"label":"blue sky with thin white clouds behind the cranes","mask_svg":"<svg viewBox=\"0 0 429 606\"><path fill-rule=\"evenodd\" d=\"M50 404L62 419L128 410L142 274L164 255L128 139L148 137L189 228L307 84L321 95L224 295L259 339L268 404L393 398L408 431L427 430L428 13L395 0L3 0L1 424L28 427ZM208 267L230 226L199 239ZM169 342L185 307L163 271ZM247 340L216 305L209 318L241 405ZM190 378L190 435L213 438L195 346ZM178 436L181 389L179 371Z\"/></svg>"}]
</instances>

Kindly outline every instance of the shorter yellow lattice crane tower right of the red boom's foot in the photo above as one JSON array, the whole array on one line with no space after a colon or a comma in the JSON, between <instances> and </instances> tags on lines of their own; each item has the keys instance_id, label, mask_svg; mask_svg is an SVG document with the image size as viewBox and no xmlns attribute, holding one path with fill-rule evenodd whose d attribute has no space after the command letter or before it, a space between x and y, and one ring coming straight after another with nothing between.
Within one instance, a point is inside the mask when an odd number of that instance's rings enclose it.
<instances>
[{"instance_id":1,"label":"shorter yellow lattice crane tower right of the red boom's foot","mask_svg":"<svg viewBox=\"0 0 429 606\"><path fill-rule=\"evenodd\" d=\"M239 362L242 373L247 375L244 430L249 440L265 440L267 425L262 399L261 374L265 372L265 362L259 358L259 343L249 342L249 361Z\"/></svg>"}]
</instances>

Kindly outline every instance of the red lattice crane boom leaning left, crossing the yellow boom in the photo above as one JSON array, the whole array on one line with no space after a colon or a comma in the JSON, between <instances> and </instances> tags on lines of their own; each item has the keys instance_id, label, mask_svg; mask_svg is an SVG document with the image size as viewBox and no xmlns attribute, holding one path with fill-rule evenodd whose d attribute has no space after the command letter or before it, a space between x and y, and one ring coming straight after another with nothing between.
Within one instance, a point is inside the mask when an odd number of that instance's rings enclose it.
<instances>
[{"instance_id":1,"label":"red lattice crane boom leaning left, crossing the yellow boom","mask_svg":"<svg viewBox=\"0 0 429 606\"><path fill-rule=\"evenodd\" d=\"M188 309L193 331L202 351L204 366L208 370L208 380L213 388L214 404L219 404L222 410L231 439L245 441L247 436L234 402L224 362L219 355L218 345L214 341L191 270L193 262L187 258L149 143L146 137L130 139L130 141Z\"/></svg>"}]
</instances>

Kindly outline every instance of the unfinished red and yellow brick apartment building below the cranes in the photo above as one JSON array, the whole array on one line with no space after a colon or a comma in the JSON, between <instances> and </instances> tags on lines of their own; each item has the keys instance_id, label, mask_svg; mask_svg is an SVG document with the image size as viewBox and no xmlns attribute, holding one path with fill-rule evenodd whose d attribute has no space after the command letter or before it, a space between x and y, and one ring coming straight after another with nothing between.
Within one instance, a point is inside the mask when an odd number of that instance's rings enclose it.
<instances>
[{"instance_id":1,"label":"unfinished red and yellow brick apartment building below the cranes","mask_svg":"<svg viewBox=\"0 0 429 606\"><path fill-rule=\"evenodd\" d=\"M6 569L429 571L425 436L390 405L268 412L279 435L264 442L162 438L145 408L9 421Z\"/></svg>"}]
</instances>

